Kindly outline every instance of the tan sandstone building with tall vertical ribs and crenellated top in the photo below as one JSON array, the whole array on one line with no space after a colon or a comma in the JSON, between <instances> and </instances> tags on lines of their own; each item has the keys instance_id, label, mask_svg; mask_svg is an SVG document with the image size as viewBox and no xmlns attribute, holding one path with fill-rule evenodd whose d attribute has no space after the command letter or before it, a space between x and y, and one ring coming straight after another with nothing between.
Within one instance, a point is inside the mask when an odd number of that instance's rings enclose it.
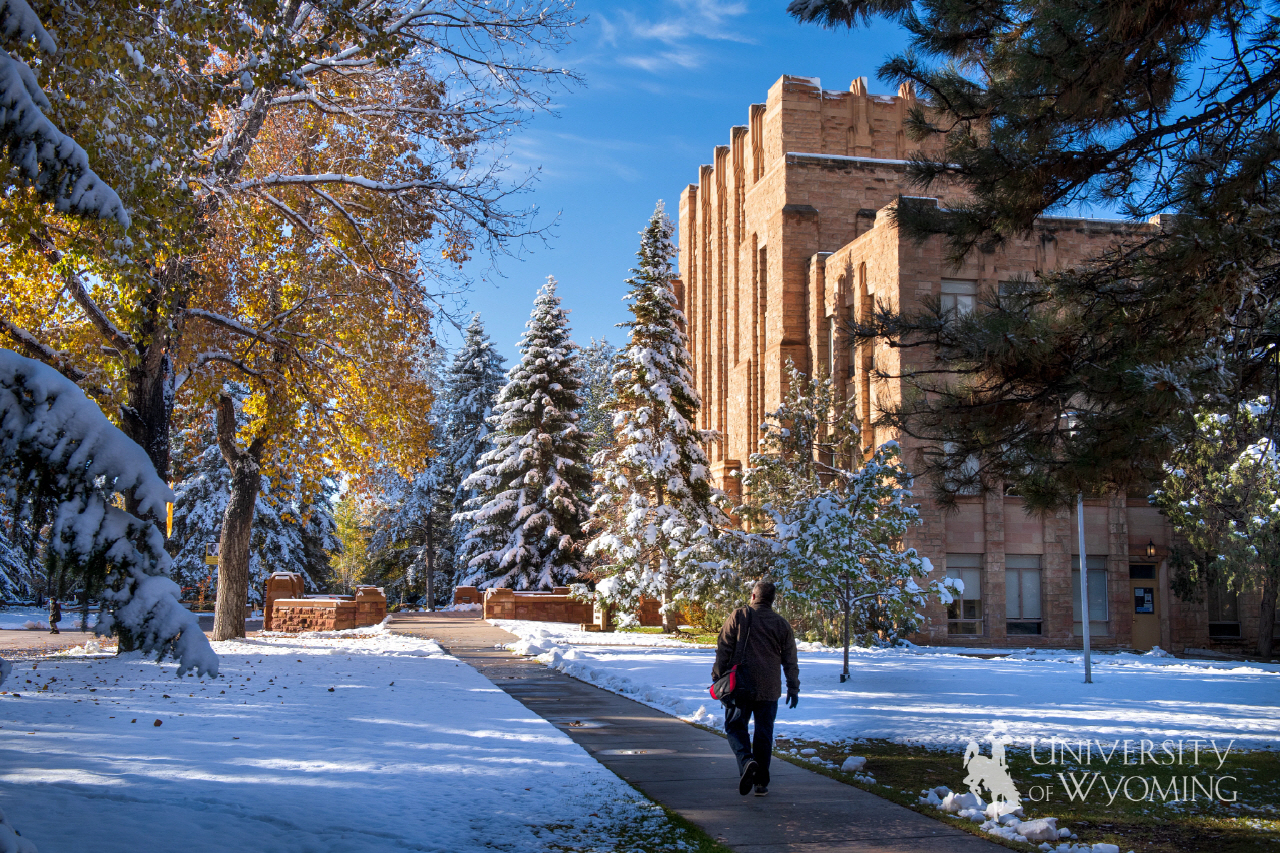
<instances>
[{"instance_id":1,"label":"tan sandstone building with tall vertical ribs and crenellated top","mask_svg":"<svg viewBox=\"0 0 1280 853\"><path fill-rule=\"evenodd\" d=\"M890 216L900 197L913 195L906 160L919 146L904 132L913 100L905 87L892 97L869 95L865 78L835 91L813 78L782 77L681 193L677 293L703 398L699 426L722 435L709 457L716 484L727 492L737 489L735 474L746 465L765 412L781 402L787 361L835 377L859 406L869 442L896 438L876 434L876 410L899 388L876 380L874 370L892 375L911 366L900 359L931 356L851 348L837 334L849 316L876 302L910 309L927 297L969 310L979 293L1004 282L1080 263L1126 234L1158 227L1046 218L1032 237L975 254L956 269L941 240L915 243ZM959 190L942 188L922 204L946 206L959 197ZM916 450L904 441L909 465ZM1074 511L1037 517L1016 498L987 494L964 498L950 512L922 497L920 512L906 544L936 571L963 578L966 593L951 608L931 605L918 639L1079 643ZM1084 516L1096 647L1252 648L1260 630L1256 597L1215 593L1188 603L1171 593L1172 533L1144 494L1087 501Z\"/></svg>"}]
</instances>

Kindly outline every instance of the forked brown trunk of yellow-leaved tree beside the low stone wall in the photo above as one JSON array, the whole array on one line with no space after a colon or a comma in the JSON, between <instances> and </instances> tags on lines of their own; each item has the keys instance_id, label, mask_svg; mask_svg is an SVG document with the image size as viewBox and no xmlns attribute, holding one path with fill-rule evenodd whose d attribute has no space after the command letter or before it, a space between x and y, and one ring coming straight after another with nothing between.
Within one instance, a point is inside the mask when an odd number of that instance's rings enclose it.
<instances>
[{"instance_id":1,"label":"forked brown trunk of yellow-leaved tree beside the low stone wall","mask_svg":"<svg viewBox=\"0 0 1280 853\"><path fill-rule=\"evenodd\" d=\"M218 546L218 601L214 606L214 639L224 640L244 637L250 539L253 507L262 485L262 439L255 438L247 450L236 444L236 403L227 394L218 398L218 448L232 469L232 493Z\"/></svg>"}]
</instances>

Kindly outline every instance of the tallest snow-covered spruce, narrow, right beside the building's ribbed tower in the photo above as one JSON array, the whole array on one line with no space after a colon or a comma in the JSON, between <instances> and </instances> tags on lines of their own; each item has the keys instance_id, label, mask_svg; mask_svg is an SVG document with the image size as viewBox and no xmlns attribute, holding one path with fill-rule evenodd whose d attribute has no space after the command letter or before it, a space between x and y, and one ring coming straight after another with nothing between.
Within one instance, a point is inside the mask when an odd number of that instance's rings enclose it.
<instances>
[{"instance_id":1,"label":"tallest snow-covered spruce, narrow, right beside the building's ribbed tower","mask_svg":"<svg viewBox=\"0 0 1280 853\"><path fill-rule=\"evenodd\" d=\"M703 450L717 435L694 426L701 401L671 283L673 232L659 201L627 279L635 319L621 324L631 341L614 361L617 443L594 460L599 533L589 548L604 560L604 574L617 578L612 594L623 619L641 596L660 598L666 630L676 628L675 602L701 597L718 576L707 547L713 528L727 521Z\"/></svg>"}]
</instances>

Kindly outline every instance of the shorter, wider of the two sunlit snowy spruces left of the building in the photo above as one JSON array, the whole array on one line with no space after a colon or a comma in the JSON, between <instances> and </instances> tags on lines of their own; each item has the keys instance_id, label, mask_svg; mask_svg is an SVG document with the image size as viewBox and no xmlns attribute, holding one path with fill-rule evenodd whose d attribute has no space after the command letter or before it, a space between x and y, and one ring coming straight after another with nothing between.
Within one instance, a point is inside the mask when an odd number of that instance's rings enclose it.
<instances>
[{"instance_id":1,"label":"shorter, wider of the two sunlit snowy spruces left of the building","mask_svg":"<svg viewBox=\"0 0 1280 853\"><path fill-rule=\"evenodd\" d=\"M582 561L590 489L577 425L582 379L554 278L538 291L525 328L520 364L489 419L489 450L463 483L477 494L456 516L471 525L463 583L477 587L550 589Z\"/></svg>"}]
</instances>

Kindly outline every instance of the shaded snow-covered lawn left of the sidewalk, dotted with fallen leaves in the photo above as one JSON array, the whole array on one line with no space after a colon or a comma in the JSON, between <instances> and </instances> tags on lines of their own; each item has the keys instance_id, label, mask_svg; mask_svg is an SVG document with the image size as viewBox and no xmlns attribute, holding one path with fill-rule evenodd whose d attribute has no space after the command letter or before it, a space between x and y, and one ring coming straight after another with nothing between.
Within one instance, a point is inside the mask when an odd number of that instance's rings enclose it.
<instances>
[{"instance_id":1,"label":"shaded snow-covered lawn left of the sidewalk, dotted with fallen leaves","mask_svg":"<svg viewBox=\"0 0 1280 853\"><path fill-rule=\"evenodd\" d=\"M0 808L23 836L42 853L541 853L680 835L430 640L378 628L214 647L215 680L83 649L15 665Z\"/></svg>"}]
</instances>

